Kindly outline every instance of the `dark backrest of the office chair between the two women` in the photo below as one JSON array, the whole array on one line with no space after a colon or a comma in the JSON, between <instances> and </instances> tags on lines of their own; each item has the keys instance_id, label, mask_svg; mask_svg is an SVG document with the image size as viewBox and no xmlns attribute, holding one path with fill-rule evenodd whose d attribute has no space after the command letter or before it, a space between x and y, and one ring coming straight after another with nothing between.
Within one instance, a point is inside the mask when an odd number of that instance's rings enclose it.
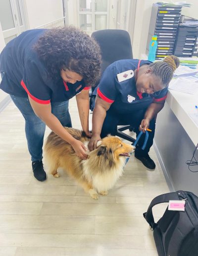
<instances>
[{"instance_id":1,"label":"dark backrest of the office chair between the two women","mask_svg":"<svg viewBox=\"0 0 198 256\"><path fill-rule=\"evenodd\" d=\"M103 29L92 33L101 50L101 73L111 63L133 59L130 35L126 30Z\"/></svg>"}]
</instances>

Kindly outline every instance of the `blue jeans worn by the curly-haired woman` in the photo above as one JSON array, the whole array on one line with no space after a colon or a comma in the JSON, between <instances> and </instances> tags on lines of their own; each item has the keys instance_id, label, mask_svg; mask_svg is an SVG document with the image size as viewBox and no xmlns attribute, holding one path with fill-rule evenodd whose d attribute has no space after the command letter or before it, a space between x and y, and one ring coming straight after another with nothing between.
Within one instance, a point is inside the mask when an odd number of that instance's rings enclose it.
<instances>
[{"instance_id":1,"label":"blue jeans worn by the curly-haired woman","mask_svg":"<svg viewBox=\"0 0 198 256\"><path fill-rule=\"evenodd\" d=\"M28 98L14 95L10 95L10 97L25 119L25 134L31 160L41 160L46 124L35 115ZM51 112L62 126L72 127L68 103L69 101L51 103Z\"/></svg>"}]
</instances>

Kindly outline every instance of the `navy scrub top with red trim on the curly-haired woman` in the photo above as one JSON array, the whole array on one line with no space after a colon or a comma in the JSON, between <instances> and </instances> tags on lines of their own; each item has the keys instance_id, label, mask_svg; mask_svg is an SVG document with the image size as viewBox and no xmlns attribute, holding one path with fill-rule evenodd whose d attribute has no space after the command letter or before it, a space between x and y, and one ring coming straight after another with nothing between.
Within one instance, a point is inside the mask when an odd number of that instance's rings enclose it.
<instances>
[{"instance_id":1,"label":"navy scrub top with red trim on the curly-haired woman","mask_svg":"<svg viewBox=\"0 0 198 256\"><path fill-rule=\"evenodd\" d=\"M31 97L40 104L67 101L86 87L84 80L66 83L61 76L56 82L49 77L45 64L33 45L47 29L33 29L11 40L0 54L0 89L19 97Z\"/></svg>"}]
</instances>

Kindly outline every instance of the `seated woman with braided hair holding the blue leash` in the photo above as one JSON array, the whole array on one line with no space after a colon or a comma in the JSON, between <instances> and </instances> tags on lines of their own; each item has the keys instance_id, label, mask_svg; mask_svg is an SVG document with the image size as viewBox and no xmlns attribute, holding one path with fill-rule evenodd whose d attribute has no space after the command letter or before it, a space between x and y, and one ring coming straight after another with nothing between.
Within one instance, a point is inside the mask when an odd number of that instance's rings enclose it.
<instances>
[{"instance_id":1,"label":"seated woman with braided hair holding the blue leash","mask_svg":"<svg viewBox=\"0 0 198 256\"><path fill-rule=\"evenodd\" d=\"M150 128L146 148L142 149L145 140L142 136L135 157L148 169L154 169L155 163L148 152L153 143L155 120L164 106L169 82L178 66L179 59L173 55L155 63L121 60L110 64L97 89L89 149L96 148L97 141L107 134L115 135L119 124L131 125L137 135Z\"/></svg>"}]
</instances>

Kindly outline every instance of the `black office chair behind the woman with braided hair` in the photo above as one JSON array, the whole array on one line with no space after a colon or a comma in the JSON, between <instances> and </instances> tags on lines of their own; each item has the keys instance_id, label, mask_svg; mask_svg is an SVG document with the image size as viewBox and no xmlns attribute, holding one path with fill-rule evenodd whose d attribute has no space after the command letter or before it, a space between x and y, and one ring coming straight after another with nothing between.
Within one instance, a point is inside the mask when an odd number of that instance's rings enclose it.
<instances>
[{"instance_id":1,"label":"black office chair behind the woman with braided hair","mask_svg":"<svg viewBox=\"0 0 198 256\"><path fill-rule=\"evenodd\" d=\"M127 31L120 29L104 29L93 32L92 37L99 43L101 50L101 74L108 65L115 61L133 59L131 39ZM97 82L96 86L92 88L91 91L91 110L93 110L95 105L98 84L99 81ZM122 127L118 128L116 135L123 139L134 142L134 138L122 132L127 129L132 131L133 128L129 125L127 126L127 124L119 125Z\"/></svg>"}]
</instances>

